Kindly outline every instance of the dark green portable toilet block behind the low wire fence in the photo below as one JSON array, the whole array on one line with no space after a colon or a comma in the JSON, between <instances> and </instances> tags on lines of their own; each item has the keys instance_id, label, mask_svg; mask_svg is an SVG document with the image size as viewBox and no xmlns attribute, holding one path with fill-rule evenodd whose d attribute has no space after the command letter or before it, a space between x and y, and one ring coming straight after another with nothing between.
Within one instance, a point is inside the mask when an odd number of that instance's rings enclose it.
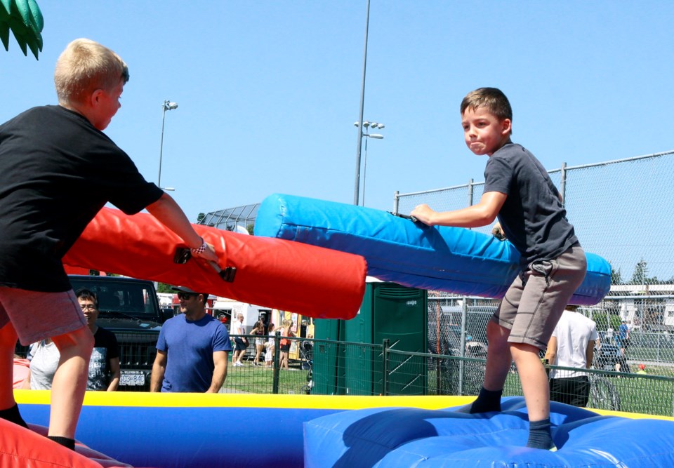
<instances>
[{"instance_id":1,"label":"dark green portable toilet block behind the low wire fence","mask_svg":"<svg viewBox=\"0 0 674 468\"><path fill-rule=\"evenodd\" d=\"M315 344L312 392L316 394L383 394L381 346L367 345L388 340L390 349L426 352L427 291L368 280L363 303L353 319L314 321L316 340L345 343ZM425 393L425 359L390 354L388 369L388 394Z\"/></svg>"}]
</instances>

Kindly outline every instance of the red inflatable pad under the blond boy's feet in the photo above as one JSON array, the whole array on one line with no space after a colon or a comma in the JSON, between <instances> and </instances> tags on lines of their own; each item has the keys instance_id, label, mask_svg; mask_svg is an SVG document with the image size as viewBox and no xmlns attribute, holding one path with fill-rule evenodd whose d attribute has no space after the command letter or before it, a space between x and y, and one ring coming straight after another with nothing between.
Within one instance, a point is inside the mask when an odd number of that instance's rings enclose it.
<instances>
[{"instance_id":1,"label":"red inflatable pad under the blond boy's feet","mask_svg":"<svg viewBox=\"0 0 674 468\"><path fill-rule=\"evenodd\" d=\"M131 467L81 443L75 444L74 452L62 447L46 439L46 427L31 424L31 429L0 420L0 467Z\"/></svg>"}]
</instances>

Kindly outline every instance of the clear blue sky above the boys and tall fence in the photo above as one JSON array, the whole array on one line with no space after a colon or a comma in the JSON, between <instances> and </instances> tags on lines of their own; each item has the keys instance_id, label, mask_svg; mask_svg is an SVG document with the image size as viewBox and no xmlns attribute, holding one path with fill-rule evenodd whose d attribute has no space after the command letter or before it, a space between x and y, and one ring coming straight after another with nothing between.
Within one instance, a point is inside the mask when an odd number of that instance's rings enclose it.
<instances>
[{"instance_id":1,"label":"clear blue sky above the boys and tall fence","mask_svg":"<svg viewBox=\"0 0 674 468\"><path fill-rule=\"evenodd\" d=\"M131 81L106 133L191 220L268 194L352 203L366 0L38 0L44 51L0 50L0 121L54 104L72 39L119 53ZM674 3L371 0L366 206L482 180L463 143L468 91L501 88L513 139L546 168L674 148ZM364 156L364 155L363 155Z\"/></svg>"}]
</instances>

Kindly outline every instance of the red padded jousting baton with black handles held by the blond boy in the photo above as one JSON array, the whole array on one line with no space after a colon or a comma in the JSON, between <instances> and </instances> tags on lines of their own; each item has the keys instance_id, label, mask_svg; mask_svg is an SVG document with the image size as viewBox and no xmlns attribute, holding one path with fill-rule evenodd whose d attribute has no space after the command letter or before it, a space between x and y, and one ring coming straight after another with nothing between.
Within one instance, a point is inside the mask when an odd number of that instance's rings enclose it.
<instances>
[{"instance_id":1,"label":"red padded jousting baton with black handles held by the blond boy","mask_svg":"<svg viewBox=\"0 0 674 468\"><path fill-rule=\"evenodd\" d=\"M187 286L322 319L351 319L365 292L360 255L308 244L247 236L193 225L218 253L221 268L234 267L232 282L199 259L174 262L185 243L147 213L129 216L103 208L63 258L64 265Z\"/></svg>"}]
</instances>

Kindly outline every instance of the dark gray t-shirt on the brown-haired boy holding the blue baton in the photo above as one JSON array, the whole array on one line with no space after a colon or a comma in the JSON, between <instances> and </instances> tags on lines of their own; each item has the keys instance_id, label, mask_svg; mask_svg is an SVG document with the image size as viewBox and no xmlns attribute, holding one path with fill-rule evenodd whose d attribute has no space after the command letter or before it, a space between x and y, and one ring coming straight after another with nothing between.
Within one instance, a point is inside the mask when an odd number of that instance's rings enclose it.
<instances>
[{"instance_id":1,"label":"dark gray t-shirt on the brown-haired boy holding the blue baton","mask_svg":"<svg viewBox=\"0 0 674 468\"><path fill-rule=\"evenodd\" d=\"M522 265L557 258L578 242L560 192L543 165L521 145L508 143L492 154L484 181L484 193L508 196L498 221L522 255Z\"/></svg>"}]
</instances>

